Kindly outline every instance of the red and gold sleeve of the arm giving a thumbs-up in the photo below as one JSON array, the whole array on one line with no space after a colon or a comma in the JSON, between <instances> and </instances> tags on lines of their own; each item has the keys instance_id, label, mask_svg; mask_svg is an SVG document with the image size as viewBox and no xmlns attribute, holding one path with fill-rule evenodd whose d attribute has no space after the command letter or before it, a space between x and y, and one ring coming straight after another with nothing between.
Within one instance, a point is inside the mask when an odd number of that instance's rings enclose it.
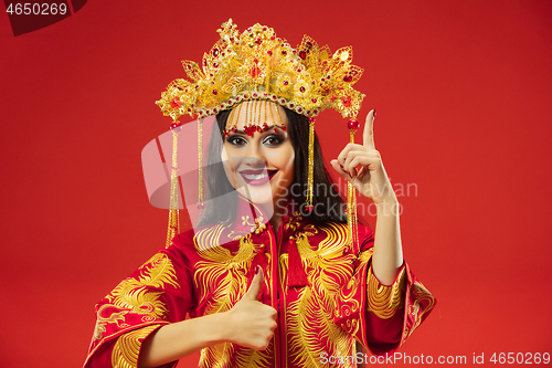
<instances>
[{"instance_id":1,"label":"red and gold sleeve of the arm giving a thumbs-up","mask_svg":"<svg viewBox=\"0 0 552 368\"><path fill-rule=\"evenodd\" d=\"M185 319L192 298L185 264L174 246L161 250L96 305L85 368L137 367L141 343L152 332Z\"/></svg>"}]
</instances>

